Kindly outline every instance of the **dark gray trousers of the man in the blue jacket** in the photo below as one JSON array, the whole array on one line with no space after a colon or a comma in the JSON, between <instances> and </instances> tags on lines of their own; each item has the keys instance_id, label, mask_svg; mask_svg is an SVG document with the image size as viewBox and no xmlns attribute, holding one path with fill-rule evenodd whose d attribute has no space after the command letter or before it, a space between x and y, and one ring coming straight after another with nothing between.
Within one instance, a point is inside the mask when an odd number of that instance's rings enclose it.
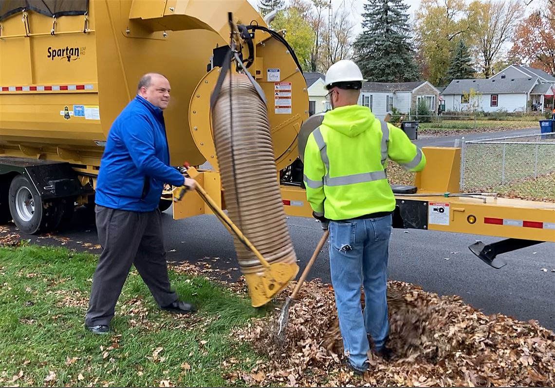
<instances>
[{"instance_id":1,"label":"dark gray trousers of the man in the blue jacket","mask_svg":"<svg viewBox=\"0 0 555 388\"><path fill-rule=\"evenodd\" d=\"M109 325L132 264L154 300L165 307L177 299L170 290L160 211L132 212L96 206L103 251L93 275L85 325Z\"/></svg>"}]
</instances>

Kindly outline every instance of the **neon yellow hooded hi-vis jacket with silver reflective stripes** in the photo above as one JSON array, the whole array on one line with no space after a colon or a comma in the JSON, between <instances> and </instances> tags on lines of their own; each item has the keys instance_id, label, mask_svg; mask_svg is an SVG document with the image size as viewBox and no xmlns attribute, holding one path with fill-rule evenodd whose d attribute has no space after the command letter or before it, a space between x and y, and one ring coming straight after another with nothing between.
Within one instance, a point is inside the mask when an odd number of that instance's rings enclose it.
<instances>
[{"instance_id":1,"label":"neon yellow hooded hi-vis jacket with silver reflective stripes","mask_svg":"<svg viewBox=\"0 0 555 388\"><path fill-rule=\"evenodd\" d=\"M409 171L421 171L426 164L405 132L376 119L369 108L327 111L305 147L304 182L312 210L329 219L393 211L387 157Z\"/></svg>"}]
</instances>

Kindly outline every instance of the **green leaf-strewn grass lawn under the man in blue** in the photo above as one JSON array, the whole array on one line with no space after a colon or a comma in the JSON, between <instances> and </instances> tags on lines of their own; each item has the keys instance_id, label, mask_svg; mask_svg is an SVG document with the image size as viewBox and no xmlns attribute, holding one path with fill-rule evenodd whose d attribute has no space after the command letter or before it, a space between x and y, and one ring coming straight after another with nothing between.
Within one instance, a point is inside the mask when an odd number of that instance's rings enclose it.
<instances>
[{"instance_id":1,"label":"green leaf-strewn grass lawn under the man in blue","mask_svg":"<svg viewBox=\"0 0 555 388\"><path fill-rule=\"evenodd\" d=\"M224 361L250 370L260 359L229 333L269 307L173 269L171 283L197 313L159 310L133 270L114 332L89 333L83 318L96 262L65 248L0 248L0 385L226 386Z\"/></svg>"}]
</instances>

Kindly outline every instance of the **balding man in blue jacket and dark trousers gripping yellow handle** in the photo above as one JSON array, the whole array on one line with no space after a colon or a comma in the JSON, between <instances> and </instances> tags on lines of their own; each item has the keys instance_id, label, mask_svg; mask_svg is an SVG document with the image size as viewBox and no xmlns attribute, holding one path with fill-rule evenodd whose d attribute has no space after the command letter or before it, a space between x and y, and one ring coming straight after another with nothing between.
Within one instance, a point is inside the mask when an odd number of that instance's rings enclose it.
<instances>
[{"instance_id":1,"label":"balding man in blue jacket and dark trousers gripping yellow handle","mask_svg":"<svg viewBox=\"0 0 555 388\"><path fill-rule=\"evenodd\" d=\"M164 183L195 187L193 179L170 167L163 110L169 81L161 74L142 76L137 96L110 128L95 192L98 239L103 248L93 275L85 326L108 333L127 274L135 265L163 310L193 312L170 289L158 204Z\"/></svg>"}]
</instances>

